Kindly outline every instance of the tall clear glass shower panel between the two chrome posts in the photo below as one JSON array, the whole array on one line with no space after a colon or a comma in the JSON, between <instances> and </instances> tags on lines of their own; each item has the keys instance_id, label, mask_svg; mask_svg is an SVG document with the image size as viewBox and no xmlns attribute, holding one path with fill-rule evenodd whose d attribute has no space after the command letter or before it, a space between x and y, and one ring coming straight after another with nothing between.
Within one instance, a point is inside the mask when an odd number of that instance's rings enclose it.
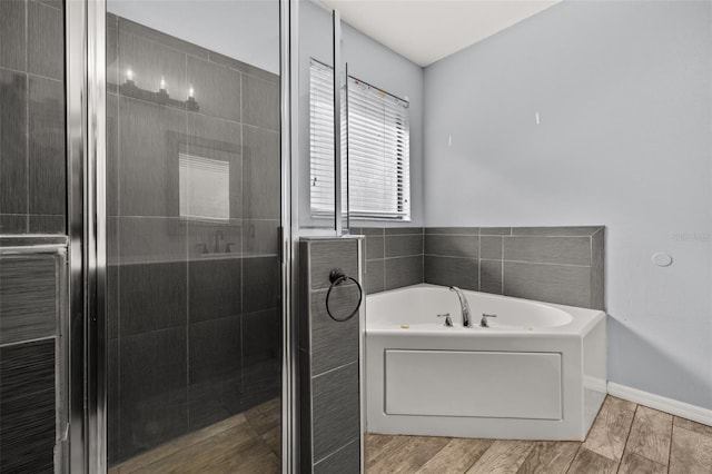
<instances>
[{"instance_id":1,"label":"tall clear glass shower panel between the two chrome posts","mask_svg":"<svg viewBox=\"0 0 712 474\"><path fill-rule=\"evenodd\" d=\"M279 3L107 9L109 472L279 472Z\"/></svg>"}]
</instances>

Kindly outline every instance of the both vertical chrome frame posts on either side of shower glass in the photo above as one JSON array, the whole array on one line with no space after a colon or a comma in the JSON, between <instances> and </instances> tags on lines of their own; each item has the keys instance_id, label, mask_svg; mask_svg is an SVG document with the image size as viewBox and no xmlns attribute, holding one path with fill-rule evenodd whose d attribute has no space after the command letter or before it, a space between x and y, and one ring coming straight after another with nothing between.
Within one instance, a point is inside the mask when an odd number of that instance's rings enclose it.
<instances>
[{"instance_id":1,"label":"both vertical chrome frame posts on either side of shower glass","mask_svg":"<svg viewBox=\"0 0 712 474\"><path fill-rule=\"evenodd\" d=\"M66 0L69 235L69 468L107 472L106 0ZM281 156L281 462L296 472L297 345L293 286L293 168L298 0L279 0Z\"/></svg>"}]
</instances>

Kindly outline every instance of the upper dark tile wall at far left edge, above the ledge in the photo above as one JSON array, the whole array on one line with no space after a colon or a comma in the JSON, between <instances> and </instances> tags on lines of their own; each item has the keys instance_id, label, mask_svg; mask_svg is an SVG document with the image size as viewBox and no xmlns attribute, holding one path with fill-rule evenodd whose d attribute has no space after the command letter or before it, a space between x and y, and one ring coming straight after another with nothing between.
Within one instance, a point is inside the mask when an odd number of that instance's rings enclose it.
<instances>
[{"instance_id":1,"label":"upper dark tile wall at far left edge, above the ledge","mask_svg":"<svg viewBox=\"0 0 712 474\"><path fill-rule=\"evenodd\" d=\"M0 2L0 234L65 234L63 3Z\"/></svg>"}]
</instances>

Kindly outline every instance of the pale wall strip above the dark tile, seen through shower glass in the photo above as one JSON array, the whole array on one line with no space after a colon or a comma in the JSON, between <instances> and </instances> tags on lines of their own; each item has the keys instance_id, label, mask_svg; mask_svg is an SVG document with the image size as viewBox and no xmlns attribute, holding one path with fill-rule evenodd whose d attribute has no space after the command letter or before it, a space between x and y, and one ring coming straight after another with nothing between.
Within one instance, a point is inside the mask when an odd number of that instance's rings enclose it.
<instances>
[{"instance_id":1,"label":"pale wall strip above the dark tile, seen through shower glass","mask_svg":"<svg viewBox=\"0 0 712 474\"><path fill-rule=\"evenodd\" d=\"M108 0L107 10L279 73L279 0Z\"/></svg>"}]
</instances>

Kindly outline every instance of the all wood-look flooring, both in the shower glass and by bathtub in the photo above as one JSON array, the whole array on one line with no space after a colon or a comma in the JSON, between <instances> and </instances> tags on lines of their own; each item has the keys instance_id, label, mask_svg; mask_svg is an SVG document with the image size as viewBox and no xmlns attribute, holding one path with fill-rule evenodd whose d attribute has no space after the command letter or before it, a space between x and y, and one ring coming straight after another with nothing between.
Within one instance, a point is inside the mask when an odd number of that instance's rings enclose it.
<instances>
[{"instance_id":1,"label":"all wood-look flooring, both in the shower glass and by bathtub","mask_svg":"<svg viewBox=\"0 0 712 474\"><path fill-rule=\"evenodd\" d=\"M280 447L273 399L109 473L279 473ZM712 474L712 426L609 396L583 443L368 434L366 473Z\"/></svg>"}]
</instances>

